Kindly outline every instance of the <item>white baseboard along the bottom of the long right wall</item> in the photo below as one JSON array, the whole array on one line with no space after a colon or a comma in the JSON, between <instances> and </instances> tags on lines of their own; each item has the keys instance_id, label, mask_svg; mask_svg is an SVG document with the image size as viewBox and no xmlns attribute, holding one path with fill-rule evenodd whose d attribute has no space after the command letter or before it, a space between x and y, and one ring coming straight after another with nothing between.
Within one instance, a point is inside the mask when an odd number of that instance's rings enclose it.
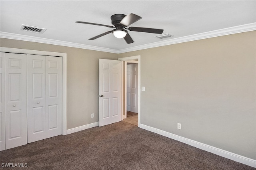
<instances>
[{"instance_id":1,"label":"white baseboard along the bottom of the long right wall","mask_svg":"<svg viewBox=\"0 0 256 170\"><path fill-rule=\"evenodd\" d=\"M153 127L150 127L150 126L147 126L147 125L140 124L139 127L143 128L145 130L148 130L150 132L154 132L154 133L160 134L162 136L166 136L168 138L172 138L174 140L178 140L180 142L189 144L189 145L194 146L196 148L206 150L207 152L211 152L213 154L222 156L224 158L228 158L228 159L234 160L236 162L240 162L242 164L246 164L246 165L249 165L249 166L252 166L252 167L256 168L256 160L254 160L254 159L247 158L245 156L241 156L241 155L238 155L238 154L234 154L232 152L228 152L226 150L222 150L220 148L216 148L216 147L210 146L208 144L203 144L203 143L197 142L195 140L184 138L182 136L178 136L176 134L172 134L170 132L166 132L164 130L153 128Z\"/></svg>"}]
</instances>

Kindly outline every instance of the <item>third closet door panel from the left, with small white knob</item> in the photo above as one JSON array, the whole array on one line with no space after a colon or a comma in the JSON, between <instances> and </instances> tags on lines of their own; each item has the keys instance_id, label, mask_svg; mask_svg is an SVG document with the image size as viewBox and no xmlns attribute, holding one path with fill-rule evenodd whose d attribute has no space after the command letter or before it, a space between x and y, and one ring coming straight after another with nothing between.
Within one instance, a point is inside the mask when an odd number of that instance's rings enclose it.
<instances>
[{"instance_id":1,"label":"third closet door panel from the left, with small white knob","mask_svg":"<svg viewBox=\"0 0 256 170\"><path fill-rule=\"evenodd\" d=\"M28 55L28 143L46 138L46 56Z\"/></svg>"}]
</instances>

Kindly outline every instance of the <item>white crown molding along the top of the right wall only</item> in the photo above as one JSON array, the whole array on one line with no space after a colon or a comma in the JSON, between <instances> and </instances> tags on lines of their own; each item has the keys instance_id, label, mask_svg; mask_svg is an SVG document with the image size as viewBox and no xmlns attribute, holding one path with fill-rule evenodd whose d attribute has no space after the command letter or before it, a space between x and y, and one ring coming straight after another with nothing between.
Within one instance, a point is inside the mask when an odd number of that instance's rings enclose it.
<instances>
[{"instance_id":1,"label":"white crown molding along the top of the right wall only","mask_svg":"<svg viewBox=\"0 0 256 170\"><path fill-rule=\"evenodd\" d=\"M173 39L164 40L164 41L160 41L160 42L156 42L156 43L148 43L145 45L139 45L136 47L126 48L126 49L120 49L120 50L118 50L118 53L137 51L137 50L141 50L141 49L160 47L160 46L164 46L164 45L190 42L190 41L195 41L195 40L202 40L202 39L206 39L206 38L226 36L226 35L230 35L230 34L237 34L237 33L255 31L255 30L256 30L256 22L251 23L251 24L241 25L241 26L234 26L234 27L230 27L230 28L214 30L214 31L210 31L210 32L204 32L204 33L200 33L200 34L194 34L194 35L190 35L190 36L184 36L184 37L180 37L180 38L173 38Z\"/></svg>"}]
</instances>

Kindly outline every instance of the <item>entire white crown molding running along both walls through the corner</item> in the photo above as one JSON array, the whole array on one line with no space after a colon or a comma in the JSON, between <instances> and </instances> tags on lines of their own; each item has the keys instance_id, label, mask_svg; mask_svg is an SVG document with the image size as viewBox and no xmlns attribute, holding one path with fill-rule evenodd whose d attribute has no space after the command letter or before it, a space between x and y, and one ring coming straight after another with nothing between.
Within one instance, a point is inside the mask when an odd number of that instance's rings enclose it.
<instances>
[{"instance_id":1,"label":"entire white crown molding running along both walls through the corner","mask_svg":"<svg viewBox=\"0 0 256 170\"><path fill-rule=\"evenodd\" d=\"M200 33L200 34L194 34L194 35L190 35L190 36L184 36L184 37L180 37L180 38L172 38L169 40L163 40L160 42L148 43L145 45L138 45L136 47L130 47L130 48L119 49L119 50L103 48L103 47L96 47L96 46L92 46L92 45L84 45L84 44L79 44L79 43L51 40L51 39L46 39L46 38L24 36L24 35L12 34L12 33L8 33L8 32L0 32L0 38L8 38L8 39L22 40L22 41L29 41L29 42L38 42L38 43L48 43L48 44L53 44L53 45L62 45L62 46L66 46L66 47L90 49L90 50L103 51L103 52L109 52L109 53L125 53L125 52L130 52L130 51L137 51L137 50L141 50L141 49L148 49L148 48L160 47L160 46L164 46L164 45L190 42L190 41L195 41L195 40L202 40L202 39L206 39L206 38L226 36L226 35L230 35L230 34L237 34L237 33L255 31L255 30L256 30L256 22L241 25L241 26L234 26L234 27L230 27L230 28L214 30L214 31L210 31L210 32L204 32L204 33Z\"/></svg>"}]
</instances>

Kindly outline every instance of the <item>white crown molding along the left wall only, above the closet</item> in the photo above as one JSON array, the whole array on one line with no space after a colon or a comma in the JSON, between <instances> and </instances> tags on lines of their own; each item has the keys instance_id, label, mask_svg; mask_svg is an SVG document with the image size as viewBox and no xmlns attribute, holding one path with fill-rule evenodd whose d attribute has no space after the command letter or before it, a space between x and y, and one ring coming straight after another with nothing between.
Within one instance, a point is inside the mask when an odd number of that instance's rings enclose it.
<instances>
[{"instance_id":1,"label":"white crown molding along the left wall only, above the closet","mask_svg":"<svg viewBox=\"0 0 256 170\"><path fill-rule=\"evenodd\" d=\"M39 38L39 37L33 37L33 36L25 36L25 35L21 35L21 34L12 34L12 33L8 33L8 32L0 32L0 38L22 40L22 41L28 41L28 42L47 43L47 44L52 44L52 45L61 45L61 46L65 46L65 47L90 49L90 50L103 51L103 52L109 52L109 53L118 53L117 50L110 49L110 48L96 47L96 46L92 46L92 45L84 45L84 44L80 44L80 43L64 42L64 41L59 41L59 40L51 40L51 39L47 39L47 38Z\"/></svg>"}]
</instances>

